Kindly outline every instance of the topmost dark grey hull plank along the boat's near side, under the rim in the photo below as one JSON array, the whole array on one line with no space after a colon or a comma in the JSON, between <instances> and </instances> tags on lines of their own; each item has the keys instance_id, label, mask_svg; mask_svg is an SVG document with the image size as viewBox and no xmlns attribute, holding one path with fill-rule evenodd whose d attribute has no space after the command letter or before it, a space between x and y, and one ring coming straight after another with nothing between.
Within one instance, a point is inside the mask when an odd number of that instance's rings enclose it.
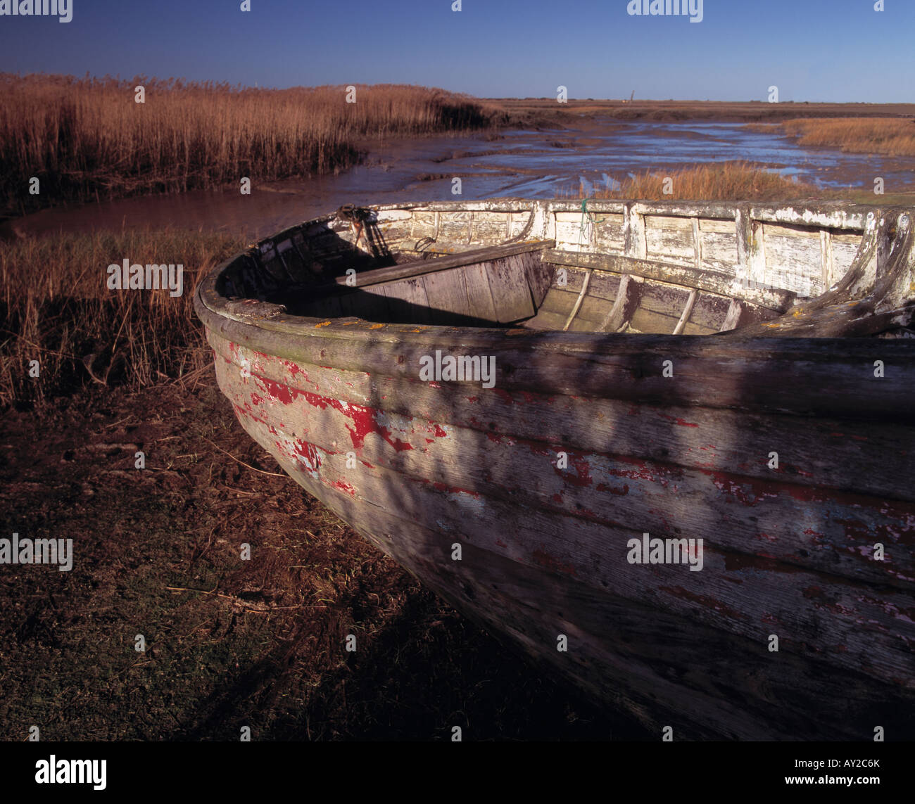
<instances>
[{"instance_id":1,"label":"topmost dark grey hull plank along the boat's near side, under the rim","mask_svg":"<svg viewBox=\"0 0 915 804\"><path fill-rule=\"evenodd\" d=\"M205 310L197 307L198 315L208 320ZM314 319L275 316L253 327L228 314L215 316L212 326L236 343L257 345L287 359L316 362L308 356L323 351L317 361L339 369L415 379L421 356L434 354L436 348L457 348L461 354L494 355L500 376L511 377L511 388L519 391L671 405L898 421L910 417L915 387L911 345L903 340L880 342L880 359L892 370L875 379L875 344L855 338L839 343L829 338L753 338L743 336L742 329L709 338L531 331L507 337L473 329L458 336L440 327L419 332L411 327L404 338L404 327L396 325L325 326ZM534 352L537 359L532 360ZM663 376L665 360L674 367L675 381Z\"/></svg>"}]
</instances>

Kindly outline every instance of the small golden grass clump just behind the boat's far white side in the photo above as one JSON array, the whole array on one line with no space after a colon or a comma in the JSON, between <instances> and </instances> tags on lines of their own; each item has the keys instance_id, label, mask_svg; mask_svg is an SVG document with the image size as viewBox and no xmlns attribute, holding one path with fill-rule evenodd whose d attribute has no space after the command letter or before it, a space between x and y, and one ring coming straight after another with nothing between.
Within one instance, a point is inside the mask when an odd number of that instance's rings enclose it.
<instances>
[{"instance_id":1,"label":"small golden grass clump just behind the boat's far white side","mask_svg":"<svg viewBox=\"0 0 915 804\"><path fill-rule=\"evenodd\" d=\"M668 185L667 179L671 182ZM670 193L665 193L665 188ZM601 189L592 198L640 198L663 201L675 199L702 199L708 201L759 200L797 198L818 193L819 190L759 166L743 162L722 162L698 167L684 167L673 171L645 172L621 182L619 189ZM585 188L579 187L578 196L584 198Z\"/></svg>"}]
</instances>

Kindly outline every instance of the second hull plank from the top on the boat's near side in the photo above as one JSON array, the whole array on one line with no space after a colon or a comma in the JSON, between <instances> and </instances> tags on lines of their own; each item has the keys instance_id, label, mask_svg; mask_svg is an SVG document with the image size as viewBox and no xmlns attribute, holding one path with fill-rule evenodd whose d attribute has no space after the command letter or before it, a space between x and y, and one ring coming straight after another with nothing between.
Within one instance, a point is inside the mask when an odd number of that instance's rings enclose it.
<instances>
[{"instance_id":1,"label":"second hull plank from the top on the boat's near side","mask_svg":"<svg viewBox=\"0 0 915 804\"><path fill-rule=\"evenodd\" d=\"M498 397L498 403L493 404L481 394L479 384L448 383L451 392L443 393L417 383L414 376L397 378L320 367L303 374L291 361L268 361L259 366L258 355L251 349L230 347L213 335L210 342L223 362L237 362L237 355L243 354L260 376L287 388L366 407L374 407L383 399L386 411L404 417L450 422L476 428L482 434L513 434L544 449L562 444L582 453L640 458L658 465L648 472L658 477L669 477L665 471L671 466L687 466L718 475L820 489L827 496L828 489L845 489L915 502L915 486L905 480L915 473L911 419L899 425L685 405L633 405L582 397L575 389L562 395L493 390L491 393ZM416 448L425 448L425 436L417 431L416 437L420 439ZM769 466L773 450L780 456L777 470ZM643 468L640 463L630 466L637 474ZM760 494L764 488L759 487ZM850 532L854 530L849 527Z\"/></svg>"}]
</instances>

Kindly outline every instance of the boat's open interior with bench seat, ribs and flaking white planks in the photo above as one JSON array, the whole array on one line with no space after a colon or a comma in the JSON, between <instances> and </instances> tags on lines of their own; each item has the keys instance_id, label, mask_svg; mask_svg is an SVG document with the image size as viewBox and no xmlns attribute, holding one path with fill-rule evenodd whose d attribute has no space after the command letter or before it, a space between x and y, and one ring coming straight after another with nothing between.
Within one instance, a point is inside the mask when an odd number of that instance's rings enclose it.
<instances>
[{"instance_id":1,"label":"boat's open interior with bench seat, ribs and flaking white planks","mask_svg":"<svg viewBox=\"0 0 915 804\"><path fill-rule=\"evenodd\" d=\"M348 205L258 243L218 290L321 319L908 338L910 217L849 204Z\"/></svg>"}]
</instances>

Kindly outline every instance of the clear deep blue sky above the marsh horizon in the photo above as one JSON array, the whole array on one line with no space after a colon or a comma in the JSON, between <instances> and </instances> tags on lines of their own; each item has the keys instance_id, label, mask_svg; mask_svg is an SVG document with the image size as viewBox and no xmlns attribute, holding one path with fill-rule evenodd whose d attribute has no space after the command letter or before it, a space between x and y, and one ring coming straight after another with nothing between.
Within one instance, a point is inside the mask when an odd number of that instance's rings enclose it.
<instances>
[{"instance_id":1,"label":"clear deep blue sky above the marsh horizon","mask_svg":"<svg viewBox=\"0 0 915 804\"><path fill-rule=\"evenodd\" d=\"M0 0L3 2L3 0ZM627 0L70 0L0 16L0 71L413 83L481 97L915 101L915 0L704 0L703 21ZM695 2L695 0L694 0Z\"/></svg>"}]
</instances>

